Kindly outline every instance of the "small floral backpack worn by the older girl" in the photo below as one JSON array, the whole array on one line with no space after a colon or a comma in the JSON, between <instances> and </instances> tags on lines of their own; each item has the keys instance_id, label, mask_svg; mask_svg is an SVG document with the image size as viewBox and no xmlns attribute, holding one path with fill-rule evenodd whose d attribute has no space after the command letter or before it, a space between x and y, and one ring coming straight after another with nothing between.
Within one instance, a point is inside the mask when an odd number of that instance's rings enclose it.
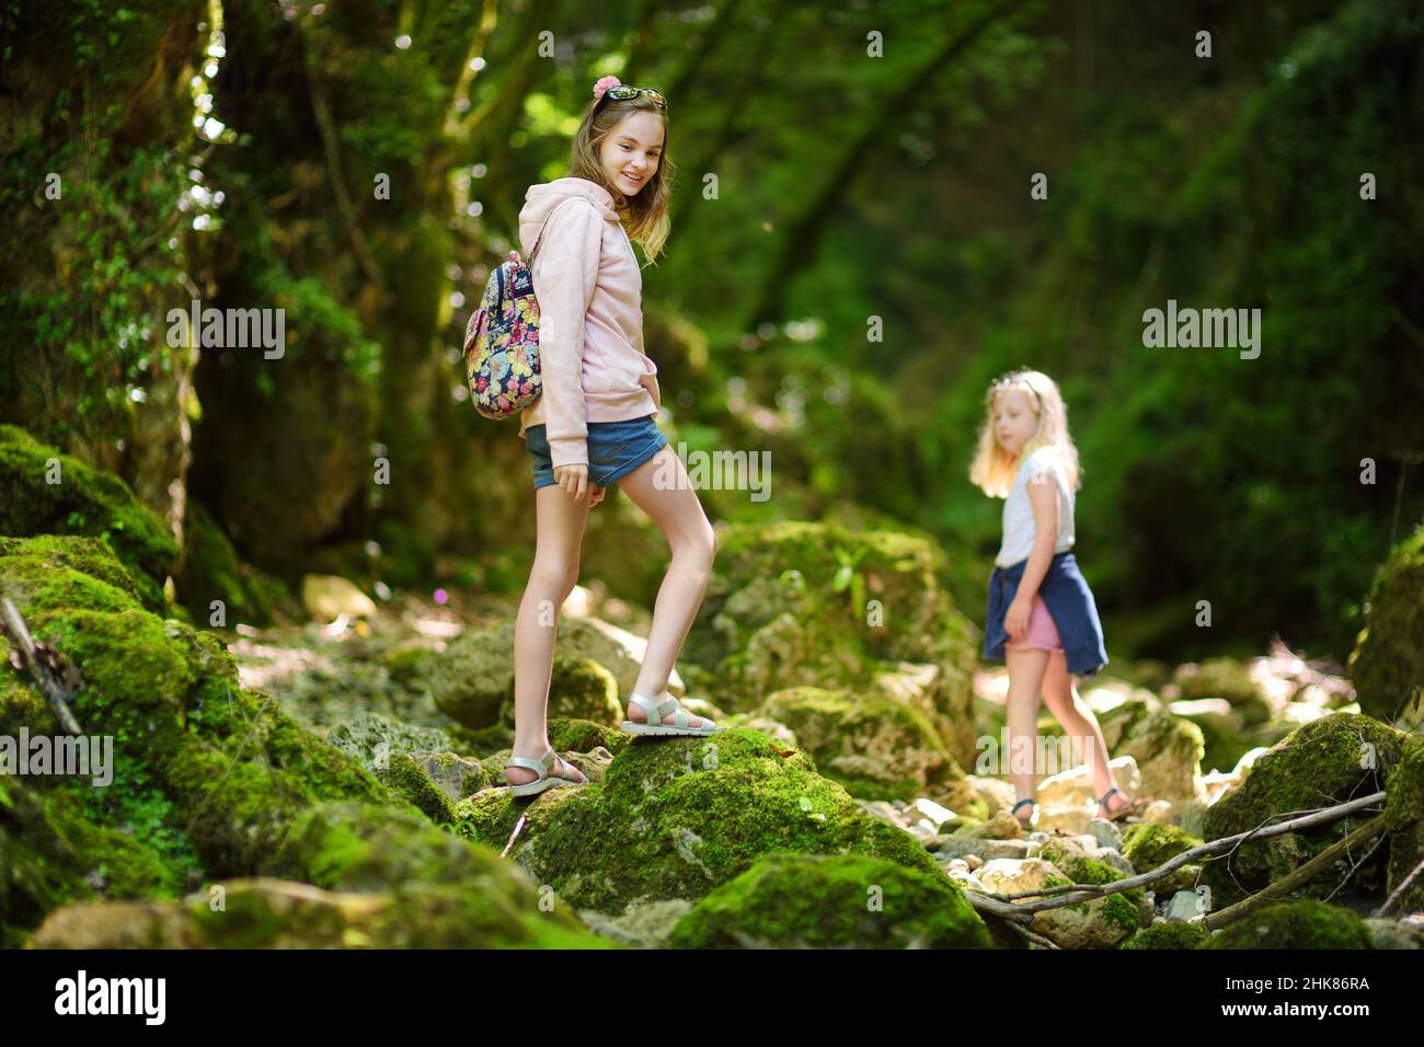
<instances>
[{"instance_id":1,"label":"small floral backpack worn by the older girl","mask_svg":"<svg viewBox=\"0 0 1424 1047\"><path fill-rule=\"evenodd\" d=\"M550 218L554 215L551 214ZM544 228L548 218L544 219ZM518 415L544 392L538 368L538 299L534 298L534 241L530 261L511 251L484 285L480 308L464 328L464 377L470 402L484 417Z\"/></svg>"}]
</instances>

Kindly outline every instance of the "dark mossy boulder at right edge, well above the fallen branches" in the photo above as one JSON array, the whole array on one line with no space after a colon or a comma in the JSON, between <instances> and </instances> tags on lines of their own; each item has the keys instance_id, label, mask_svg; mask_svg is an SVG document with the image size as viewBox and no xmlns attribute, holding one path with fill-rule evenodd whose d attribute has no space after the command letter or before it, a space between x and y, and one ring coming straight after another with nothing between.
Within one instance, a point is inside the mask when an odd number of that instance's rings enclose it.
<instances>
[{"instance_id":1,"label":"dark mossy boulder at right edge, well above the fallen branches","mask_svg":"<svg viewBox=\"0 0 1424 1047\"><path fill-rule=\"evenodd\" d=\"M1424 524L1376 571L1349 672L1361 712L1424 722Z\"/></svg>"}]
</instances>

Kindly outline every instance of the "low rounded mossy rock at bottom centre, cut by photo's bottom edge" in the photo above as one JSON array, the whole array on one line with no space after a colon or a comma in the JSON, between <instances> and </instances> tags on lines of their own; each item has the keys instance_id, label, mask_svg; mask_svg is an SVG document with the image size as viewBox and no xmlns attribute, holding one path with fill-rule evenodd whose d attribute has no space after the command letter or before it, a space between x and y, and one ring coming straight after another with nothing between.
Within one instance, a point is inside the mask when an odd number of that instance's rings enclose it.
<instances>
[{"instance_id":1,"label":"low rounded mossy rock at bottom centre, cut by photo's bottom edge","mask_svg":"<svg viewBox=\"0 0 1424 1047\"><path fill-rule=\"evenodd\" d=\"M768 855L702 897L671 949L990 949L960 890L880 858Z\"/></svg>"}]
</instances>

